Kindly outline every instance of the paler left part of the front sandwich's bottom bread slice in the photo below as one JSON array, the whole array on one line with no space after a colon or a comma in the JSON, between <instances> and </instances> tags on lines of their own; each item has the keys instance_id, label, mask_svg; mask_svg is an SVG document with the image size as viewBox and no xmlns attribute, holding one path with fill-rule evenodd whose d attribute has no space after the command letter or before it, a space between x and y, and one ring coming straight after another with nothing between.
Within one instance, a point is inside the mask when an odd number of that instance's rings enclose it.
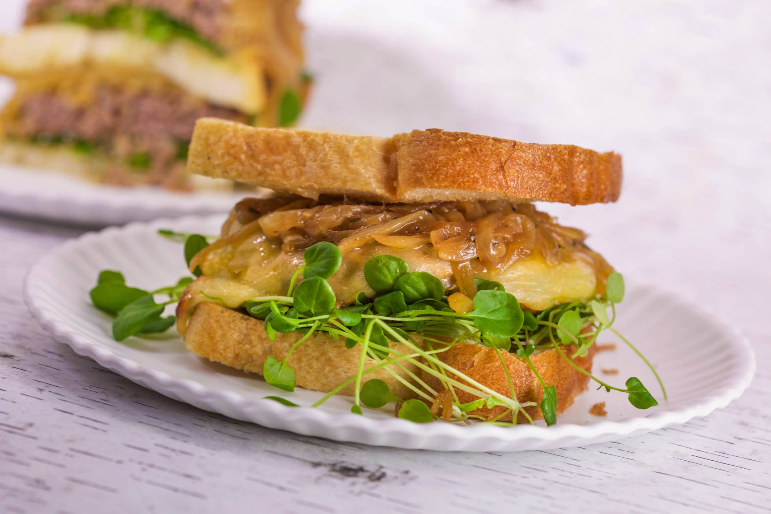
<instances>
[{"instance_id":1,"label":"paler left part of the front sandwich's bottom bread slice","mask_svg":"<svg viewBox=\"0 0 771 514\"><path fill-rule=\"evenodd\" d=\"M271 341L268 334L265 334L263 321L227 307L202 303L195 307L190 316L184 341L188 350L210 361L262 375L262 367L269 355L278 360L283 359L291 345L301 337L298 333L276 334L276 340ZM391 348L409 354L401 344L392 342ZM326 392L356 375L360 355L360 347L345 348L343 339L335 341L328 335L314 334L291 354L289 365L295 370L298 386ZM368 357L364 368L372 368L376 364L377 361ZM407 362L403 366L413 373L418 371ZM399 372L396 367L392 369ZM416 396L384 368L364 375L362 383L372 378L385 381L399 398ZM350 384L338 394L352 396L353 393L354 385Z\"/></svg>"}]
</instances>

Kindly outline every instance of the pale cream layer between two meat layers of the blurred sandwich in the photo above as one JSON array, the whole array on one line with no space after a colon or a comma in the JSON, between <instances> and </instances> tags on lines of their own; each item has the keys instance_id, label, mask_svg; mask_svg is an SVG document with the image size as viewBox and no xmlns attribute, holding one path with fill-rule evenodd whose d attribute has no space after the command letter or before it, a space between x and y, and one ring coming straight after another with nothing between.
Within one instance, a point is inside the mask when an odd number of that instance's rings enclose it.
<instances>
[{"instance_id":1,"label":"pale cream layer between two meat layers of the blurred sandwich","mask_svg":"<svg viewBox=\"0 0 771 514\"><path fill-rule=\"evenodd\" d=\"M112 64L151 69L195 96L256 114L267 92L257 55L214 55L181 39L153 42L121 30L80 25L32 25L0 36L0 72L30 76L51 69Z\"/></svg>"}]
</instances>

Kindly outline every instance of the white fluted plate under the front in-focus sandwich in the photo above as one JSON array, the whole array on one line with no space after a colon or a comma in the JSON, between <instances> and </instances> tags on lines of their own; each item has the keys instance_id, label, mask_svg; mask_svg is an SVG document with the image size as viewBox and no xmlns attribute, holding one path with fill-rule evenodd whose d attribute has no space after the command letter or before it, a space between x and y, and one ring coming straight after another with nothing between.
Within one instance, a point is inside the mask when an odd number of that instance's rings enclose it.
<instances>
[{"instance_id":1,"label":"white fluted plate under the front in-focus sandwich","mask_svg":"<svg viewBox=\"0 0 771 514\"><path fill-rule=\"evenodd\" d=\"M171 398L271 428L402 448L514 451L609 441L725 407L741 395L755 371L748 342L732 328L672 294L654 287L629 287L619 309L618 329L654 363L669 401L663 400L651 372L623 344L598 354L594 371L618 385L637 376L658 398L658 407L640 411L625 395L590 388L549 428L543 422L517 427L419 425L394 418L388 408L352 415L351 400L345 397L332 398L321 408L285 407L262 397L281 395L311 405L321 394L302 389L284 393L256 375L211 364L187 352L176 333L118 343L110 337L109 317L89 303L88 291L104 268L121 270L130 285L147 289L173 284L186 274L181 245L158 237L158 228L217 233L221 222L221 216L210 216L131 223L69 241L29 271L25 284L29 311L54 338L79 354ZM618 369L619 374L602 375L602 369ZM607 405L603 418L588 413L598 401Z\"/></svg>"}]
</instances>

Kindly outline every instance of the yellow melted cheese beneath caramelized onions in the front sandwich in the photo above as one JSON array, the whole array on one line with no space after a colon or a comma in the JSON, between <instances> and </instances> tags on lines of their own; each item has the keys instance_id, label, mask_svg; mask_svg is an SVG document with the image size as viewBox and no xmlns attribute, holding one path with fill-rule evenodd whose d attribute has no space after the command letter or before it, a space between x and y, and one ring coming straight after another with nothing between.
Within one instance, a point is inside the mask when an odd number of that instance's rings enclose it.
<instances>
[{"instance_id":1,"label":"yellow melted cheese beneath caramelized onions in the front sandwich","mask_svg":"<svg viewBox=\"0 0 771 514\"><path fill-rule=\"evenodd\" d=\"M340 269L329 279L338 304L352 304L356 294L373 296L375 291L364 279L364 264L379 254L395 255L406 260L412 271L428 271L445 287L453 287L455 278L450 263L436 257L426 247L396 250L382 244L367 244L343 255ZM273 238L258 233L237 248L225 247L210 254L200 277L191 290L197 298L180 302L189 311L200 301L213 301L224 307L238 307L251 297L286 294L292 274L303 264L302 252L283 252ZM597 278L592 268L581 261L547 264L540 256L517 260L505 270L493 270L480 278L499 281L523 307L542 311L555 302L587 299L594 295ZM211 297L216 299L212 300ZM180 315L180 318L187 319Z\"/></svg>"}]
</instances>

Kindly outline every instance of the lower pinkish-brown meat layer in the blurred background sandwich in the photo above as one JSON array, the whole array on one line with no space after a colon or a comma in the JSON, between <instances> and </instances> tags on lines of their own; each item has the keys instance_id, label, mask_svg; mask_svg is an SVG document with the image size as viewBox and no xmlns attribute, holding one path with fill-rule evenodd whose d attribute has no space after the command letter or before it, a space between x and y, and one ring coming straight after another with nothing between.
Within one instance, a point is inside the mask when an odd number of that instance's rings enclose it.
<instances>
[{"instance_id":1,"label":"lower pinkish-brown meat layer in the blurred background sandwich","mask_svg":"<svg viewBox=\"0 0 771 514\"><path fill-rule=\"evenodd\" d=\"M244 120L235 109L184 96L103 87L86 105L76 105L52 92L35 93L24 99L8 133L26 138L82 139L108 145L122 154L151 150L143 146L158 141L189 141L195 120L204 116Z\"/></svg>"}]
</instances>

